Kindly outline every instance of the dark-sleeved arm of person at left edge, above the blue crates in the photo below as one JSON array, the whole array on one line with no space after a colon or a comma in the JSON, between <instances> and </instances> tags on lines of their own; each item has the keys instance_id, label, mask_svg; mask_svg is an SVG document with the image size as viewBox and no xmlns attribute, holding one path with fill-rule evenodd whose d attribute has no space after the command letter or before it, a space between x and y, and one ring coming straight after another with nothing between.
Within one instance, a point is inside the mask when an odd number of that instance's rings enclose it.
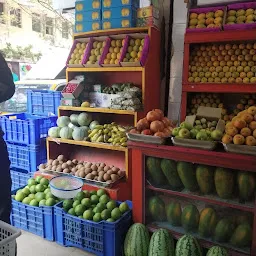
<instances>
[{"instance_id":1,"label":"dark-sleeved arm of person at left edge, above the blue crates","mask_svg":"<svg viewBox=\"0 0 256 256\"><path fill-rule=\"evenodd\" d=\"M9 100L15 92L11 70L0 53L0 103Z\"/></svg>"}]
</instances>

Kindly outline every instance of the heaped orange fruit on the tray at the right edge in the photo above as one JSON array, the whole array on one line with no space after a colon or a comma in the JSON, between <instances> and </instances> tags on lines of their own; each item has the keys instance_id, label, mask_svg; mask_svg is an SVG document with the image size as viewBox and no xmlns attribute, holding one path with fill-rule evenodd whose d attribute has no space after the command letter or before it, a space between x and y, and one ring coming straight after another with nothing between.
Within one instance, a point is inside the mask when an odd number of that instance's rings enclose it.
<instances>
[{"instance_id":1,"label":"heaped orange fruit on the tray at the right edge","mask_svg":"<svg viewBox=\"0 0 256 256\"><path fill-rule=\"evenodd\" d=\"M238 113L231 122L226 124L225 135L222 138L225 144L256 146L256 107Z\"/></svg>"}]
</instances>

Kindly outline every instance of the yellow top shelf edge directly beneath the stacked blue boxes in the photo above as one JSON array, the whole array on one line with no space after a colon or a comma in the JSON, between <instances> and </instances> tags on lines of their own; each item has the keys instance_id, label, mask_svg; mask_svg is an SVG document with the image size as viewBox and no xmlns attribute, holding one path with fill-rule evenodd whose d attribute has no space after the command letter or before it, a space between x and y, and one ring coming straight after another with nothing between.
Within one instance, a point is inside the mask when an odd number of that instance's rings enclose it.
<instances>
[{"instance_id":1,"label":"yellow top shelf edge directly beneath the stacked blue boxes","mask_svg":"<svg viewBox=\"0 0 256 256\"><path fill-rule=\"evenodd\" d=\"M92 36L106 36L116 34L131 34L131 33L148 33L150 27L135 27L135 28L114 28L107 30L97 30L90 32L75 33L74 39L92 37Z\"/></svg>"}]
</instances>

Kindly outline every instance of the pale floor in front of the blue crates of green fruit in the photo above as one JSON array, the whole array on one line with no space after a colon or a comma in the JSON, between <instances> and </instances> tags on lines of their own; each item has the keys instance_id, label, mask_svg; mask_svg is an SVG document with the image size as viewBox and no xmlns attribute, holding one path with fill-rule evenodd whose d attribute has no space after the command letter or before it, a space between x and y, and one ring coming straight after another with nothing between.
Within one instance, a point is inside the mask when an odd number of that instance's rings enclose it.
<instances>
[{"instance_id":1,"label":"pale floor in front of the blue crates of green fruit","mask_svg":"<svg viewBox=\"0 0 256 256\"><path fill-rule=\"evenodd\" d=\"M94 256L73 247L62 247L25 231L17 239L17 246L17 256Z\"/></svg>"}]
</instances>

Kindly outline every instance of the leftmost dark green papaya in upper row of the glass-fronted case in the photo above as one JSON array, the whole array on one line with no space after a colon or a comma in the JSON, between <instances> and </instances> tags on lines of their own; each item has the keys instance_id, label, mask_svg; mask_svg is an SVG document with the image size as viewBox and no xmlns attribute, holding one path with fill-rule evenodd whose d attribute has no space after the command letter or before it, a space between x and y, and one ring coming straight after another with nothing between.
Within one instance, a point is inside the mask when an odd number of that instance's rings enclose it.
<instances>
[{"instance_id":1,"label":"leftmost dark green papaya in upper row of the glass-fronted case","mask_svg":"<svg viewBox=\"0 0 256 256\"><path fill-rule=\"evenodd\" d=\"M147 157L146 171L151 178L153 185L163 185L166 182L166 178L161 169L161 159L156 157Z\"/></svg>"}]
</instances>

